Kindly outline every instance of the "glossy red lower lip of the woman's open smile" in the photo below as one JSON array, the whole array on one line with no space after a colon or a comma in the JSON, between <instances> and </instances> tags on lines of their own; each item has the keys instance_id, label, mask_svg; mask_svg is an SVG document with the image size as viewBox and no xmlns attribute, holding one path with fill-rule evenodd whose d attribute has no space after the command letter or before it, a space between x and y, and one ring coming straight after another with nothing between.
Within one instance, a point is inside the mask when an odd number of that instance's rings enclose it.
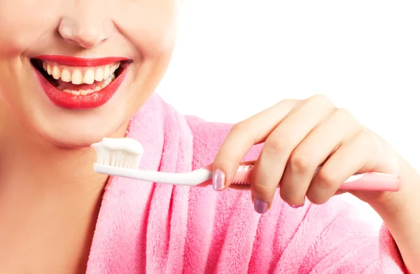
<instances>
[{"instance_id":1,"label":"glossy red lower lip of the woman's open smile","mask_svg":"<svg viewBox=\"0 0 420 274\"><path fill-rule=\"evenodd\" d=\"M118 77L104 89L83 96L62 92L61 90L57 89L57 87L52 85L52 83L48 81L41 74L41 72L38 71L38 69L34 67L33 69L43 91L48 96L50 101L55 104L55 106L71 110L89 110L104 105L107 101L109 101L109 99L111 99L114 94L116 94L118 88L125 78L125 75L127 75L128 66L126 66L123 71L121 71L120 75L118 75Z\"/></svg>"}]
</instances>

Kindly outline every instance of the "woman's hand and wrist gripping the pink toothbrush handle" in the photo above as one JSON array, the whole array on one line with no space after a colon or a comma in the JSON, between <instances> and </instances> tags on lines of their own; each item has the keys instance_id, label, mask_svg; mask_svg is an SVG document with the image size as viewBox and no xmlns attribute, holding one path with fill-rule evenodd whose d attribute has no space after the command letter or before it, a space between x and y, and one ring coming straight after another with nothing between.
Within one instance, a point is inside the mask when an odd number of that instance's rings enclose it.
<instances>
[{"instance_id":1,"label":"woman's hand and wrist gripping the pink toothbrush handle","mask_svg":"<svg viewBox=\"0 0 420 274\"><path fill-rule=\"evenodd\" d=\"M416 194L420 177L384 139L325 96L284 100L232 127L214 161L215 171L225 174L223 189L230 187L246 152L262 142L251 174L253 203L260 213L264 213L260 205L267 203L269 210L276 194L293 208L302 206L305 197L322 204L344 193L339 187L355 173L398 175L399 192L350 193L369 203L384 219L407 270L419 273L420 201Z\"/></svg>"}]
</instances>

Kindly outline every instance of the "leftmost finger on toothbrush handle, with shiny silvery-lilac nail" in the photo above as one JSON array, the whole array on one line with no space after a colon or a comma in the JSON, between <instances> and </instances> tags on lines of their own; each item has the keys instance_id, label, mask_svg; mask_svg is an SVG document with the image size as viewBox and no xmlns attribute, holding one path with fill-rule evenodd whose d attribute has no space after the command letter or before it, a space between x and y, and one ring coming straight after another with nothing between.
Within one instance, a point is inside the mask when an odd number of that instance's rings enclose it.
<instances>
[{"instance_id":1,"label":"leftmost finger on toothbrush handle, with shiny silvery-lilac nail","mask_svg":"<svg viewBox=\"0 0 420 274\"><path fill-rule=\"evenodd\" d=\"M297 103L296 100L281 101L232 127L214 159L212 183L215 190L229 187L246 152L254 144L264 141Z\"/></svg>"}]
</instances>

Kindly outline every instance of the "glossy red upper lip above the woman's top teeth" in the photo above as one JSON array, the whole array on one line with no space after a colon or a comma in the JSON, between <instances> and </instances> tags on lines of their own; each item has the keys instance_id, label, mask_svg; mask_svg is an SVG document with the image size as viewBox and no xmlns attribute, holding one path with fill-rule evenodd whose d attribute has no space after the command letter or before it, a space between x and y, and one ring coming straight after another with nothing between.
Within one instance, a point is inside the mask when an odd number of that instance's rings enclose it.
<instances>
[{"instance_id":1,"label":"glossy red upper lip above the woman's top teeth","mask_svg":"<svg viewBox=\"0 0 420 274\"><path fill-rule=\"evenodd\" d=\"M45 62L54 62L64 66L104 66L116 62L130 61L130 59L125 57L81 58L63 55L40 55L34 57L34 59Z\"/></svg>"}]
</instances>

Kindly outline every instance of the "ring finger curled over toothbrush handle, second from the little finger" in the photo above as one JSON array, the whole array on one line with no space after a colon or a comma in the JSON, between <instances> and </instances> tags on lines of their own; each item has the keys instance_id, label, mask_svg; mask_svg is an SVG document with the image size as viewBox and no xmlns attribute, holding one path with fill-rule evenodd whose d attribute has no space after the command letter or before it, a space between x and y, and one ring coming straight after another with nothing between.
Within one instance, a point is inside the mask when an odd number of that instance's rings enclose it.
<instances>
[{"instance_id":1,"label":"ring finger curled over toothbrush handle, second from the little finger","mask_svg":"<svg viewBox=\"0 0 420 274\"><path fill-rule=\"evenodd\" d=\"M316 168L323 164L335 150L354 137L362 126L343 109L335 110L313 129L296 147L288 159L281 178L281 199L290 206L303 206Z\"/></svg>"}]
</instances>

